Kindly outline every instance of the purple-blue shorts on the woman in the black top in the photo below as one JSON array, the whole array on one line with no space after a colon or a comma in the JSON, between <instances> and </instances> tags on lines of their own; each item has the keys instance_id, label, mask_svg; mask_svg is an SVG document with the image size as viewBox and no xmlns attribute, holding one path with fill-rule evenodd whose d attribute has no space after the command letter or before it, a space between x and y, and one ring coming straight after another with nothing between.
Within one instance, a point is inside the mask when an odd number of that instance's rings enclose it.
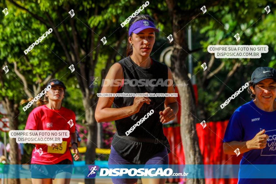
<instances>
[{"instance_id":1,"label":"purple-blue shorts on the woman in the black top","mask_svg":"<svg viewBox=\"0 0 276 184\"><path fill-rule=\"evenodd\" d=\"M108 159L108 165L125 165L125 164L133 164L124 158L122 158L111 146L110 155ZM167 148L164 146L164 150L153 155L147 162L146 165L149 164L169 164L169 156ZM138 181L137 178L111 178L113 184L133 184Z\"/></svg>"}]
</instances>

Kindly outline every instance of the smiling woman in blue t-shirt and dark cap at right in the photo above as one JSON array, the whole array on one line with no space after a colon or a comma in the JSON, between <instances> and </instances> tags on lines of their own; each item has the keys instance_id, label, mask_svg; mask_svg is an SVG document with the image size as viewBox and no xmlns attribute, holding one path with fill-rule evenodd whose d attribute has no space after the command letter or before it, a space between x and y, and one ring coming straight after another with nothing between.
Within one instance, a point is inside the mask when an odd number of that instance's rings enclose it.
<instances>
[{"instance_id":1,"label":"smiling woman in blue t-shirt and dark cap at right","mask_svg":"<svg viewBox=\"0 0 276 184\"><path fill-rule=\"evenodd\" d=\"M263 172L262 166L257 165L276 164L276 108L275 104L273 106L276 70L257 68L252 73L247 91L253 99L232 114L225 131L223 150L229 155L236 155L237 149L240 154L244 153L240 162L239 184L275 183L276 179L252 178L264 177L256 175L254 169Z\"/></svg>"}]
</instances>

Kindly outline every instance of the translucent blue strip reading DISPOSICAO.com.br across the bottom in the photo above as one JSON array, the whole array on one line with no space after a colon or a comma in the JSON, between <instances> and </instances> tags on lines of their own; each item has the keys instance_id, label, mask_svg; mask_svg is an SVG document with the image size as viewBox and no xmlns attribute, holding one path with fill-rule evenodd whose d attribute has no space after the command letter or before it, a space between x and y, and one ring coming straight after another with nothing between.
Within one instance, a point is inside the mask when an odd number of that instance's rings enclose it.
<instances>
[{"instance_id":1,"label":"translucent blue strip reading DISPOSICAO.com.br across the bottom","mask_svg":"<svg viewBox=\"0 0 276 184\"><path fill-rule=\"evenodd\" d=\"M5 178L276 178L276 165L0 165Z\"/></svg>"}]
</instances>

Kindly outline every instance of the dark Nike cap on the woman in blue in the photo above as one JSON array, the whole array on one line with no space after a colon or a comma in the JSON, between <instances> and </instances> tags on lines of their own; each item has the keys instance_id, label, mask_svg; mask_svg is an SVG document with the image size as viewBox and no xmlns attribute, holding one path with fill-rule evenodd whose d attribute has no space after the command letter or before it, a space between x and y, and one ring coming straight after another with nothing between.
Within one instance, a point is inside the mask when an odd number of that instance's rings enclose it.
<instances>
[{"instance_id":1,"label":"dark Nike cap on the woman in blue","mask_svg":"<svg viewBox=\"0 0 276 184\"><path fill-rule=\"evenodd\" d=\"M276 70L274 68L258 67L253 71L251 75L251 81L253 84L257 84L259 81L268 78L272 78L276 81Z\"/></svg>"}]
</instances>

